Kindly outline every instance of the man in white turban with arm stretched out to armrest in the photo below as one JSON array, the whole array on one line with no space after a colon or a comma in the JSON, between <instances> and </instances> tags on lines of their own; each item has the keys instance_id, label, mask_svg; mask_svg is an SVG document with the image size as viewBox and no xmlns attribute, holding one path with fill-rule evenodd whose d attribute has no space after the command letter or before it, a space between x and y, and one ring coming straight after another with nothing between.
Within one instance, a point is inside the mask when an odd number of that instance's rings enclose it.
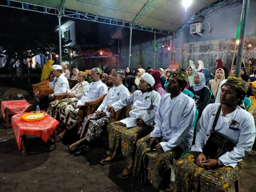
<instances>
[{"instance_id":1,"label":"man in white turban with arm stretched out to armrest","mask_svg":"<svg viewBox=\"0 0 256 192\"><path fill-rule=\"evenodd\" d=\"M107 111L112 112L133 105L129 112L130 117L110 123L108 126L108 143L112 155L101 160L102 164L108 164L121 154L131 158L129 166L118 176L122 179L132 175L136 142L152 131L152 122L161 98L160 94L152 88L154 83L154 78L144 73L139 83L139 90L107 108Z\"/></svg>"}]
</instances>

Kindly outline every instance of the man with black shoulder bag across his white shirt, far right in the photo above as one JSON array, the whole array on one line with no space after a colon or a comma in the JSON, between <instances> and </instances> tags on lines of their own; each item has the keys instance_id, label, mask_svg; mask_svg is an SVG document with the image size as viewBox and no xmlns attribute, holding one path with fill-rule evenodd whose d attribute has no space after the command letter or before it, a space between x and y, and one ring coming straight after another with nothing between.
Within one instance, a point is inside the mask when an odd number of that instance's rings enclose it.
<instances>
[{"instance_id":1,"label":"man with black shoulder bag across his white shirt, far right","mask_svg":"<svg viewBox=\"0 0 256 192\"><path fill-rule=\"evenodd\" d=\"M243 159L249 154L255 140L253 116L239 107L247 89L247 82L241 78L229 77L221 87L220 104L209 104L203 110L197 123L195 145L190 153L181 157L174 165L175 191L228 191L238 178ZM214 131L225 135L234 144L227 151L225 148L223 151L221 147L221 154L216 150L211 154L206 145L216 135L209 139L215 118ZM218 138L215 140L219 141ZM204 147L206 149L203 152ZM206 158L206 150L208 157L216 156L216 159Z\"/></svg>"}]
</instances>

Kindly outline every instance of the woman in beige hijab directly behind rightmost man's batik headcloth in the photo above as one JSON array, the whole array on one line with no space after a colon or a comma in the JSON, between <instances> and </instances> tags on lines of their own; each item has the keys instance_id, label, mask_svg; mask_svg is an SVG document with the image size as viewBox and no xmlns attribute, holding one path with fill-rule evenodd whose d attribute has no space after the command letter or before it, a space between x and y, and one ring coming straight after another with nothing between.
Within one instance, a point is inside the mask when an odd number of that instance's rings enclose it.
<instances>
[{"instance_id":1,"label":"woman in beige hijab directly behind rightmost man's batik headcloth","mask_svg":"<svg viewBox=\"0 0 256 192\"><path fill-rule=\"evenodd\" d=\"M225 73L223 69L217 69L215 72L215 78L209 80L208 87L212 92L212 96L210 98L210 103L215 103L215 98L217 96L218 89L220 87L220 83L225 79Z\"/></svg>"}]
</instances>

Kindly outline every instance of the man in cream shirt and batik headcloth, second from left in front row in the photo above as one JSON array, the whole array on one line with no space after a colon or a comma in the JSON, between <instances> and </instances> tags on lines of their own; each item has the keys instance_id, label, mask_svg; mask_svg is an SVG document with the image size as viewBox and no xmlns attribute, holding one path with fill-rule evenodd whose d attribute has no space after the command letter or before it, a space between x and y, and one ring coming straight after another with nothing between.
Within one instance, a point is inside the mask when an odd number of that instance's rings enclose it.
<instances>
[{"instance_id":1,"label":"man in cream shirt and batik headcloth, second from left in front row","mask_svg":"<svg viewBox=\"0 0 256 192\"><path fill-rule=\"evenodd\" d=\"M86 81L86 79L87 73L80 71L77 75L78 83L67 92L67 98L51 102L47 113L59 121L59 115L62 108L80 100L80 98L87 91L89 83Z\"/></svg>"}]
</instances>

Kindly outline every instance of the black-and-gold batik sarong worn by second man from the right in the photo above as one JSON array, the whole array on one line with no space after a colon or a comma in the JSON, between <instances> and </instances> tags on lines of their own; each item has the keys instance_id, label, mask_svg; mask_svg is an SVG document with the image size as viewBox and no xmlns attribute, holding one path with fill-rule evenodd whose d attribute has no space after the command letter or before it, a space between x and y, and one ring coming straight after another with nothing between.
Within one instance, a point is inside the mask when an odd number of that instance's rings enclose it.
<instances>
[{"instance_id":1,"label":"black-and-gold batik sarong worn by second man from the right","mask_svg":"<svg viewBox=\"0 0 256 192\"><path fill-rule=\"evenodd\" d=\"M160 142L166 142L166 140L162 138ZM137 141L133 176L137 177L137 181L145 183L149 181L156 189L167 189L171 179L170 162L173 158L180 157L181 148L178 146L180 150L176 150L177 147L161 154L150 154L149 143L150 135Z\"/></svg>"}]
</instances>

